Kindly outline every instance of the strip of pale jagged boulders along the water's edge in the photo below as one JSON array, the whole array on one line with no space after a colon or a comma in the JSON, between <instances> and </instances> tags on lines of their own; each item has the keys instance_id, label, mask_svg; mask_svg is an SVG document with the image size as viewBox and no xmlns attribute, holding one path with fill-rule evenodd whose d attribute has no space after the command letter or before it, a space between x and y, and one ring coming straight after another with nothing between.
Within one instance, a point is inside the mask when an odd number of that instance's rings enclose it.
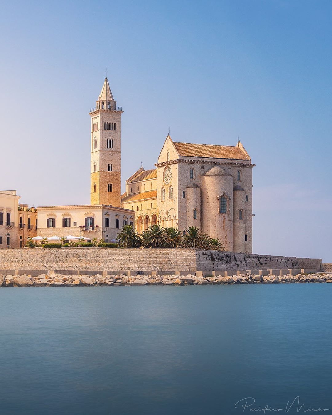
<instances>
[{"instance_id":1,"label":"strip of pale jagged boulders along the water's edge","mask_svg":"<svg viewBox=\"0 0 332 415\"><path fill-rule=\"evenodd\" d=\"M144 286L144 285L210 285L210 284L287 284L287 283L332 283L332 274L286 274L255 275L240 274L233 276L204 276L195 275L62 275L41 274L37 277L24 275L0 275L0 287L76 287L76 286Z\"/></svg>"}]
</instances>

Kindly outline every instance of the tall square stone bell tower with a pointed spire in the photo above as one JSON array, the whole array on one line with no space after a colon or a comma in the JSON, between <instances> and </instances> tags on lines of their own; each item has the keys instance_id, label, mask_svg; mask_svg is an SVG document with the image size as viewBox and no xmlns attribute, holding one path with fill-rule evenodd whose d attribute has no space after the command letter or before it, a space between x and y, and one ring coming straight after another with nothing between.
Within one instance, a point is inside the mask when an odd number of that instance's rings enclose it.
<instances>
[{"instance_id":1,"label":"tall square stone bell tower with a pointed spire","mask_svg":"<svg viewBox=\"0 0 332 415\"><path fill-rule=\"evenodd\" d=\"M121 114L110 85L103 88L91 108L91 205L120 207Z\"/></svg>"}]
</instances>

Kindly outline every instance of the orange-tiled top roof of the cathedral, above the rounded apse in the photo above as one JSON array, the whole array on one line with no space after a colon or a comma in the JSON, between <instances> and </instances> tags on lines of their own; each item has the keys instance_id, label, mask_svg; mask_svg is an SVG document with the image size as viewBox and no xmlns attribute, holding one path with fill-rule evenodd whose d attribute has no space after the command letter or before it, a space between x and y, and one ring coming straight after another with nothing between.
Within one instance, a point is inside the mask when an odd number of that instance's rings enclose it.
<instances>
[{"instance_id":1,"label":"orange-tiled top roof of the cathedral, above the rounded apse","mask_svg":"<svg viewBox=\"0 0 332 415\"><path fill-rule=\"evenodd\" d=\"M206 159L250 160L242 146L217 146L214 144L179 143L173 141L179 156Z\"/></svg>"}]
</instances>

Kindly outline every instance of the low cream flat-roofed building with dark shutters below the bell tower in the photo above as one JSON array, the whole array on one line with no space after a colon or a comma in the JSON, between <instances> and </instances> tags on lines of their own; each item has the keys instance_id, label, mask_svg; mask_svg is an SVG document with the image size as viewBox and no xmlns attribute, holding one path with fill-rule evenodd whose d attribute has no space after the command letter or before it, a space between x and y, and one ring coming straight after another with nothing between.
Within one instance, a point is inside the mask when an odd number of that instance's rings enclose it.
<instances>
[{"instance_id":1,"label":"low cream flat-roofed building with dark shutters below the bell tower","mask_svg":"<svg viewBox=\"0 0 332 415\"><path fill-rule=\"evenodd\" d=\"M73 235L111 242L124 223L135 219L132 210L107 205L40 206L37 210L41 237Z\"/></svg>"}]
</instances>

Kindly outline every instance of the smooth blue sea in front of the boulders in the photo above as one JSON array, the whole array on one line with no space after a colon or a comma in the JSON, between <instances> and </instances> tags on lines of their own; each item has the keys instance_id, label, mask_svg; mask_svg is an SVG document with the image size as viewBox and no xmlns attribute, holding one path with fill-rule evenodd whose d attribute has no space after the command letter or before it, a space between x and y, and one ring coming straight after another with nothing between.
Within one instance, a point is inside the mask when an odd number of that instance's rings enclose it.
<instances>
[{"instance_id":1,"label":"smooth blue sea in front of the boulders","mask_svg":"<svg viewBox=\"0 0 332 415\"><path fill-rule=\"evenodd\" d=\"M282 414L296 396L288 414L332 414L331 298L332 284L2 288L0 414Z\"/></svg>"}]
</instances>

